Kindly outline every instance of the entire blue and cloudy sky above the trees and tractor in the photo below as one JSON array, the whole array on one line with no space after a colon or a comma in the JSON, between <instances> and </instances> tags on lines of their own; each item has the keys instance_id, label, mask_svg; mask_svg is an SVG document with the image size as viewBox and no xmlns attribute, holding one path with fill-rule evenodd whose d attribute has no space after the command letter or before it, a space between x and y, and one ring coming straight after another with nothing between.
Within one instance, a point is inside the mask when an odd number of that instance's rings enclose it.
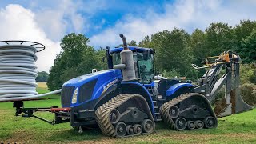
<instances>
[{"instance_id":1,"label":"entire blue and cloudy sky above the trees and tractor","mask_svg":"<svg viewBox=\"0 0 256 144\"><path fill-rule=\"evenodd\" d=\"M85 34L90 45L117 46L141 41L146 35L175 27L191 33L205 30L211 22L234 26L242 19L256 20L256 0L1 0L0 40L41 42L46 50L38 53L38 70L50 69L65 34Z\"/></svg>"}]
</instances>

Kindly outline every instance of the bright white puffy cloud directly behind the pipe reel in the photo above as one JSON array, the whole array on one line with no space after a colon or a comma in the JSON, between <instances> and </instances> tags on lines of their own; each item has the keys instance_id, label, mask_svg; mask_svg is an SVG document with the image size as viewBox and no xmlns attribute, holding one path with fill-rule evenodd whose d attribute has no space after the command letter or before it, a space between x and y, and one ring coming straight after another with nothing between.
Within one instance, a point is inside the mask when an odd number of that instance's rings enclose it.
<instances>
[{"instance_id":1,"label":"bright white puffy cloud directly behind the pipe reel","mask_svg":"<svg viewBox=\"0 0 256 144\"><path fill-rule=\"evenodd\" d=\"M41 42L46 50L37 53L38 70L48 71L59 52L59 42L53 42L35 21L35 14L19 5L8 5L0 10L0 39Z\"/></svg>"}]
</instances>

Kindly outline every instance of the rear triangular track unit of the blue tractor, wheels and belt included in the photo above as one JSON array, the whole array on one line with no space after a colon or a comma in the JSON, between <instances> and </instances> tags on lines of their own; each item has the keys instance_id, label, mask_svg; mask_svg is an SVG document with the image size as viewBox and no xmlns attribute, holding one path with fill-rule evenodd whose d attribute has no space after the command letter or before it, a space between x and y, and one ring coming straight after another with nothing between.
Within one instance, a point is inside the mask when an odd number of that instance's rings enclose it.
<instances>
[{"instance_id":1,"label":"rear triangular track unit of the blue tractor, wheels and belt included","mask_svg":"<svg viewBox=\"0 0 256 144\"><path fill-rule=\"evenodd\" d=\"M162 120L173 130L215 128L218 120L208 100L198 93L182 94L160 108Z\"/></svg>"}]
</instances>

